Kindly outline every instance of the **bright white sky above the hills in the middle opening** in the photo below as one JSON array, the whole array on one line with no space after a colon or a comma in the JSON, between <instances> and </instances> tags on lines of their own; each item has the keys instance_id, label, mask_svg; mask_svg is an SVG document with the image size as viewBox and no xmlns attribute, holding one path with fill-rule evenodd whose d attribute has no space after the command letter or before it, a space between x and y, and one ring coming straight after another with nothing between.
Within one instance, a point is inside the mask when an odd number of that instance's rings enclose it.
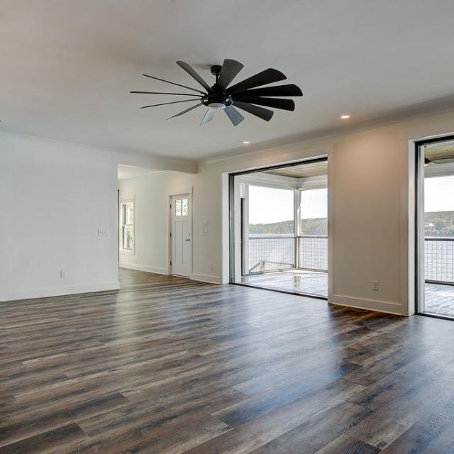
<instances>
[{"instance_id":1,"label":"bright white sky above the hills in the middle opening","mask_svg":"<svg viewBox=\"0 0 454 454\"><path fill-rule=\"evenodd\" d=\"M326 189L304 191L301 218L326 218ZM249 186L249 223L275 223L293 219L293 191Z\"/></svg>"}]
</instances>

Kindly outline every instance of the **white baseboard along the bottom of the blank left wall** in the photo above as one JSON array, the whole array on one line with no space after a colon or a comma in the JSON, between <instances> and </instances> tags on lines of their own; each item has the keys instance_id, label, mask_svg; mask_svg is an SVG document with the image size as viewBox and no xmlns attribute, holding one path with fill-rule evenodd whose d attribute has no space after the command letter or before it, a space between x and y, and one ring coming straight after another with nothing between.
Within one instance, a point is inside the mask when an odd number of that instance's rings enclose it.
<instances>
[{"instance_id":1,"label":"white baseboard along the bottom of the blank left wall","mask_svg":"<svg viewBox=\"0 0 454 454\"><path fill-rule=\"evenodd\" d=\"M10 290L0 292L0 301L16 301L18 299L35 299L60 297L78 293L106 292L107 290L118 290L120 282L99 282L97 284L71 285L67 287L48 287L45 289Z\"/></svg>"}]
</instances>

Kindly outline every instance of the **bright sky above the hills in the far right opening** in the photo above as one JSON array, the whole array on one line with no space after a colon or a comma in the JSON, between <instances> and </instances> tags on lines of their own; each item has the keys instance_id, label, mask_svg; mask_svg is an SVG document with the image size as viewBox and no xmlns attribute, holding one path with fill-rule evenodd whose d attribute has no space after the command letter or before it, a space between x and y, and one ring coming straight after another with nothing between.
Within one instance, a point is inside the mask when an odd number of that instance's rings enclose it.
<instances>
[{"instance_id":1,"label":"bright sky above the hills in the far right opening","mask_svg":"<svg viewBox=\"0 0 454 454\"><path fill-rule=\"evenodd\" d=\"M454 176L424 179L424 211L454 211Z\"/></svg>"}]
</instances>

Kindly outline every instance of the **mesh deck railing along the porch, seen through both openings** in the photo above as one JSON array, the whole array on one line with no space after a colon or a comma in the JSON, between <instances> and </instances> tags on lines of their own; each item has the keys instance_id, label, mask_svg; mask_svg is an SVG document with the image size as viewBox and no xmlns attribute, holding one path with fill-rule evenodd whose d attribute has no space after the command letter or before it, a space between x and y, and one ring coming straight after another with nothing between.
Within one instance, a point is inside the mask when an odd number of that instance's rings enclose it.
<instances>
[{"instance_id":1,"label":"mesh deck railing along the porch, seen through both openings","mask_svg":"<svg viewBox=\"0 0 454 454\"><path fill-rule=\"evenodd\" d=\"M454 238L425 238L425 276L429 282L454 283ZM248 273L328 270L328 237L250 236Z\"/></svg>"}]
</instances>

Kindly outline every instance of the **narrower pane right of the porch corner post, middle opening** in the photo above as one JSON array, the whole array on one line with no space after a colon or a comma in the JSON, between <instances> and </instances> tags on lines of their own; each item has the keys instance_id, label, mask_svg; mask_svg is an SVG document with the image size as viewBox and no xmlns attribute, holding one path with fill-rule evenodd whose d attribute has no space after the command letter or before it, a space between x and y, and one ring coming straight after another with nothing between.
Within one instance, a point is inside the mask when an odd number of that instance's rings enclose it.
<instances>
[{"instance_id":1,"label":"narrower pane right of the porch corner post, middle opening","mask_svg":"<svg viewBox=\"0 0 454 454\"><path fill-rule=\"evenodd\" d=\"M301 191L301 235L328 235L328 189Z\"/></svg>"}]
</instances>

